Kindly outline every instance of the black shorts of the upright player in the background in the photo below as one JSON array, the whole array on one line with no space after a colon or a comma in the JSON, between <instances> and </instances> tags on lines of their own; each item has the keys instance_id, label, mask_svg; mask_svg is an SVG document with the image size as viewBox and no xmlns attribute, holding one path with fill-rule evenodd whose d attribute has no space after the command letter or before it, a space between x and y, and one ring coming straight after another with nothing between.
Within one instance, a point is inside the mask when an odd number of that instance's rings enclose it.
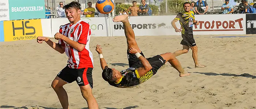
<instances>
[{"instance_id":1,"label":"black shorts of the upright player in the background","mask_svg":"<svg viewBox=\"0 0 256 109\"><path fill-rule=\"evenodd\" d=\"M186 45L188 47L196 46L196 41L193 37L193 33L181 34L181 37L183 38L180 42L181 45Z\"/></svg>"}]
</instances>

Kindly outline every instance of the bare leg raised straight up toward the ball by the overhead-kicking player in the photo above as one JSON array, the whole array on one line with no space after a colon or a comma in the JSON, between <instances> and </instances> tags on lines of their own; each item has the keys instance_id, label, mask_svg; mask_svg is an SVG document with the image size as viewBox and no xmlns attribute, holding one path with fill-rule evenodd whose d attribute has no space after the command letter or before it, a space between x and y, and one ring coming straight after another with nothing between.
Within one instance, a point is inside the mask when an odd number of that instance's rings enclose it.
<instances>
[{"instance_id":1,"label":"bare leg raised straight up toward the ball by the overhead-kicking player","mask_svg":"<svg viewBox=\"0 0 256 109\"><path fill-rule=\"evenodd\" d=\"M137 49L140 53L141 51L137 45L137 42L135 41L135 35L134 35L132 27L129 23L128 15L116 16L116 17L114 17L113 21L114 22L121 21L124 24L124 33L125 33L125 37L127 39L127 46L128 46L127 49L133 47L133 48Z\"/></svg>"}]
</instances>

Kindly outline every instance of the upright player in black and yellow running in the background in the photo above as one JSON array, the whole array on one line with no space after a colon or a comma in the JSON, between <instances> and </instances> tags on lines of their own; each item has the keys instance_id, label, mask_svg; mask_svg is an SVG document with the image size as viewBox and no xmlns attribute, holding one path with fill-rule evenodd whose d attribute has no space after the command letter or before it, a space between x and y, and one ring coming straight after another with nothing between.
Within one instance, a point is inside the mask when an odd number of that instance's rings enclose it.
<instances>
[{"instance_id":1,"label":"upright player in black and yellow running in the background","mask_svg":"<svg viewBox=\"0 0 256 109\"><path fill-rule=\"evenodd\" d=\"M180 42L183 45L182 50L175 51L173 55L179 56L184 53L188 53L189 48L192 49L192 57L195 62L195 68L204 68L206 66L200 65L197 58L197 46L195 39L193 37L193 24L199 25L199 22L195 20L194 12L191 11L191 4L186 2L183 4L184 12L178 13L178 15L173 19L172 26L175 32L181 31L182 40ZM182 29L176 27L176 22L180 21Z\"/></svg>"}]
</instances>

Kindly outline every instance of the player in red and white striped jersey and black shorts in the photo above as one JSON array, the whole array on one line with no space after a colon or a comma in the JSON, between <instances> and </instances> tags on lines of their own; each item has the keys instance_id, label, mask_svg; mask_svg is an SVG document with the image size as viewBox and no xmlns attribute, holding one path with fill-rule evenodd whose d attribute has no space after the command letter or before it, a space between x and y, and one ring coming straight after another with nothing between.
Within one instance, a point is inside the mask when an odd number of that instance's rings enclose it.
<instances>
[{"instance_id":1,"label":"player in red and white striped jersey and black shorts","mask_svg":"<svg viewBox=\"0 0 256 109\"><path fill-rule=\"evenodd\" d=\"M70 23L62 26L59 33L54 35L59 43L53 43L47 37L37 37L38 43L45 41L56 51L65 52L68 56L68 64L54 78L52 88L63 109L69 109L68 95L63 85L76 81L89 109L98 109L97 101L92 93L93 54L89 49L90 25L80 20L81 7L77 1L65 5L64 9Z\"/></svg>"}]
</instances>

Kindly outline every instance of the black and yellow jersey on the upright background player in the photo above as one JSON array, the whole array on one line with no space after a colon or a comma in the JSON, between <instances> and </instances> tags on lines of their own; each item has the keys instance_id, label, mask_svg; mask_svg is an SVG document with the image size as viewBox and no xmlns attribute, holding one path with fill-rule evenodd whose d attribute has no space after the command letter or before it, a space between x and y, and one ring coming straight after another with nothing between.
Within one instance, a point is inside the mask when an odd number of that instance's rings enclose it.
<instances>
[{"instance_id":1,"label":"black and yellow jersey on the upright background player","mask_svg":"<svg viewBox=\"0 0 256 109\"><path fill-rule=\"evenodd\" d=\"M193 33L193 20L195 19L193 11L178 13L175 19L180 21L182 27L181 34Z\"/></svg>"}]
</instances>

